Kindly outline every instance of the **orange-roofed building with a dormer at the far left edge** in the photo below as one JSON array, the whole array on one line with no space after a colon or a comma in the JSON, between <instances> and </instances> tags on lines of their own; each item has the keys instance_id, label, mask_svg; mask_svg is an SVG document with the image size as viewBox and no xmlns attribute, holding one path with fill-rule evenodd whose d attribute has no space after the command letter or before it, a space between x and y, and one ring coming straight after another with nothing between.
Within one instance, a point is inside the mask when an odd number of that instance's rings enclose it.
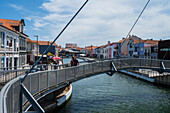
<instances>
[{"instance_id":1,"label":"orange-roofed building with a dormer at the far left edge","mask_svg":"<svg viewBox=\"0 0 170 113\"><path fill-rule=\"evenodd\" d=\"M20 21L0 19L1 68L15 69L26 65L28 35L24 33L24 26L23 19Z\"/></svg>"}]
</instances>

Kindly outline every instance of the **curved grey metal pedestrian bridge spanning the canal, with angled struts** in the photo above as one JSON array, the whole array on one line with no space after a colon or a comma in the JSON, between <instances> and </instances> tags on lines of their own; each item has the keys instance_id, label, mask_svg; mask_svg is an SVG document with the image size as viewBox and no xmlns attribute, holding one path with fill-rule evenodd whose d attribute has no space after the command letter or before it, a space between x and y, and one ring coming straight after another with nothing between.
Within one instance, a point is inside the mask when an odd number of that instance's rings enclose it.
<instances>
[{"instance_id":1,"label":"curved grey metal pedestrian bridge spanning the canal, with angled struts","mask_svg":"<svg viewBox=\"0 0 170 113\"><path fill-rule=\"evenodd\" d=\"M96 61L75 67L30 73L22 84L20 84L20 78L23 76L20 76L8 82L1 90L0 113L17 113L21 110L27 112L32 103L38 112L44 112L37 100L59 86L90 75L127 69L170 72L170 61L125 58ZM21 88L24 89L23 92L26 92L25 96L22 95L23 98L20 96Z\"/></svg>"}]
</instances>

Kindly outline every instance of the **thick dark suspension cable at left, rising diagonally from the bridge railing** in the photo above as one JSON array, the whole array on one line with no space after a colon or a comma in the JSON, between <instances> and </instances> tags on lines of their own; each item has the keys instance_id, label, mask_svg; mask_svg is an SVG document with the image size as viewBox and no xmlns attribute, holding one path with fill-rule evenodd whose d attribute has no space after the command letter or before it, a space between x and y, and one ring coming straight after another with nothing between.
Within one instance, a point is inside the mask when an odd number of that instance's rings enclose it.
<instances>
[{"instance_id":1,"label":"thick dark suspension cable at left, rising diagonally from the bridge railing","mask_svg":"<svg viewBox=\"0 0 170 113\"><path fill-rule=\"evenodd\" d=\"M76 12L76 14L71 18L71 20L67 23L67 25L61 30L61 32L58 34L58 36L54 39L54 41L47 47L47 49L44 51L44 53L41 55L41 57L33 64L31 69L25 74L23 78L21 78L21 83L24 82L25 78L28 76L28 74L34 69L34 67L38 64L38 62L41 60L43 55L49 50L49 48L55 43L55 41L61 36L61 34L65 31L65 29L70 25L70 23L74 20L74 18L79 14L79 12L83 9L83 7L87 4L89 0L86 0L86 2L81 6L81 8Z\"/></svg>"}]
</instances>

